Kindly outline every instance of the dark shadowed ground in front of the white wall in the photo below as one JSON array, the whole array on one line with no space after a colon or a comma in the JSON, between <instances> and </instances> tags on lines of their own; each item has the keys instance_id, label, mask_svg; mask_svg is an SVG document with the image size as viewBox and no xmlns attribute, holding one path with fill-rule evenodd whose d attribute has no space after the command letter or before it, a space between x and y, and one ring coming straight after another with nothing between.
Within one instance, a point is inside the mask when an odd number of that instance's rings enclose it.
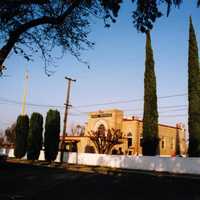
<instances>
[{"instance_id":1,"label":"dark shadowed ground in front of the white wall","mask_svg":"<svg viewBox=\"0 0 200 200\"><path fill-rule=\"evenodd\" d=\"M198 200L200 178L0 163L0 200Z\"/></svg>"}]
</instances>

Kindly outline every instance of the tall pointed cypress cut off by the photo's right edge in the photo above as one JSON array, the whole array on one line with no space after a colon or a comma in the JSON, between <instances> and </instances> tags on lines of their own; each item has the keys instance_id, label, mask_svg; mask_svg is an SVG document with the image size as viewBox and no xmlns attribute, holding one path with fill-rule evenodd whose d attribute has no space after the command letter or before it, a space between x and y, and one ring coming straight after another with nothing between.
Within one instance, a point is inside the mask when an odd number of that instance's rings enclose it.
<instances>
[{"instance_id":1,"label":"tall pointed cypress cut off by the photo's right edge","mask_svg":"<svg viewBox=\"0 0 200 200\"><path fill-rule=\"evenodd\" d=\"M190 17L188 55L188 128L189 149L191 157L200 156L200 70L198 45L195 30Z\"/></svg>"}]
</instances>

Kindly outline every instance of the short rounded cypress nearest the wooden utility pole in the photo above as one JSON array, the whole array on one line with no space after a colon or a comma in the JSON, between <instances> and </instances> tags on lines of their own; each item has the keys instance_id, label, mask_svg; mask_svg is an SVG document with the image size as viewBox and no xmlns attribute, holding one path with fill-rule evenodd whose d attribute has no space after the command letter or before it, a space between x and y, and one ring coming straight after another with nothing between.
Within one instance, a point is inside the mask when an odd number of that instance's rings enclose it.
<instances>
[{"instance_id":1,"label":"short rounded cypress nearest the wooden utility pole","mask_svg":"<svg viewBox=\"0 0 200 200\"><path fill-rule=\"evenodd\" d=\"M60 113L57 110L49 110L45 122L44 147L45 159L53 161L58 154L60 141Z\"/></svg>"}]
</instances>

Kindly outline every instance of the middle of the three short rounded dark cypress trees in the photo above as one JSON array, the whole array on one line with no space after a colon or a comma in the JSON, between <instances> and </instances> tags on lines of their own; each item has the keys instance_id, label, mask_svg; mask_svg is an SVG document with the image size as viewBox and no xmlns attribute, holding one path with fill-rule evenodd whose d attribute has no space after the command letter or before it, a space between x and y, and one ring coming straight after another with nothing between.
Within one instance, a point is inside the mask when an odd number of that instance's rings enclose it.
<instances>
[{"instance_id":1,"label":"middle of the three short rounded dark cypress trees","mask_svg":"<svg viewBox=\"0 0 200 200\"><path fill-rule=\"evenodd\" d=\"M40 113L33 113L30 119L28 133L27 159L37 160L42 149L43 117Z\"/></svg>"}]
</instances>

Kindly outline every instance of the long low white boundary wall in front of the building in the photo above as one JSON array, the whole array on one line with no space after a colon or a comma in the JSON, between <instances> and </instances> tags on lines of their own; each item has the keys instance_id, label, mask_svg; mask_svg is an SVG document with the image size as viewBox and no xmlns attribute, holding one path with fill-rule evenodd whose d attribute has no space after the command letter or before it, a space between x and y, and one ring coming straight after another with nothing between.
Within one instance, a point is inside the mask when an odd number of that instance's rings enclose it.
<instances>
[{"instance_id":1,"label":"long low white boundary wall in front of the building","mask_svg":"<svg viewBox=\"0 0 200 200\"><path fill-rule=\"evenodd\" d=\"M10 150L8 156L14 157L13 152L13 150ZM59 158L60 152L56 161L59 162ZM26 159L26 157L24 157L24 159ZM41 151L39 160L44 160L44 151ZM133 170L200 174L200 158L65 153L64 162L68 164L104 166Z\"/></svg>"}]
</instances>

